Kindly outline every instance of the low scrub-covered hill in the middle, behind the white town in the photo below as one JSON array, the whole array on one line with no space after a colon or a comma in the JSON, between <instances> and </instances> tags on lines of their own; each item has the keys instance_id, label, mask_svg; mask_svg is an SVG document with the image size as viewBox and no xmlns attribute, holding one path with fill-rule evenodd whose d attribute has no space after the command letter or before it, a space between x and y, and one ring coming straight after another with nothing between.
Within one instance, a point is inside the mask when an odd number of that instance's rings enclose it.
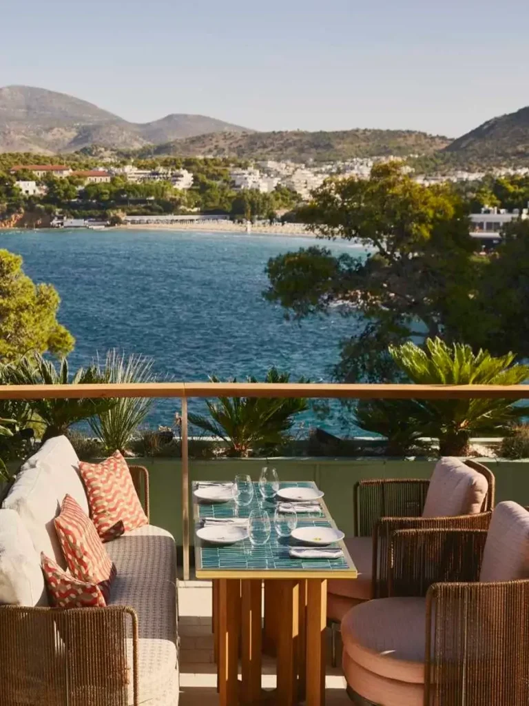
<instances>
[{"instance_id":1,"label":"low scrub-covered hill in the middle, behind the white town","mask_svg":"<svg viewBox=\"0 0 529 706\"><path fill-rule=\"evenodd\" d=\"M158 145L155 155L239 157L241 159L348 160L375 155L432 154L450 143L445 137L406 130L336 132L217 132Z\"/></svg>"}]
</instances>

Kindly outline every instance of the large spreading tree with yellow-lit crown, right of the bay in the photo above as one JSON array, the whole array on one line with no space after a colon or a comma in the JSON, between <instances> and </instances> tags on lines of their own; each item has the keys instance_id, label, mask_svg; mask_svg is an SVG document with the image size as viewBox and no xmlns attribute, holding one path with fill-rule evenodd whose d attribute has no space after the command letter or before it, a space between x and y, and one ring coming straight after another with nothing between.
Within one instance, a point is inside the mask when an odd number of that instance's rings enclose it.
<instances>
[{"instance_id":1,"label":"large spreading tree with yellow-lit crown, right of the bay","mask_svg":"<svg viewBox=\"0 0 529 706\"><path fill-rule=\"evenodd\" d=\"M388 346L410 337L466 340L484 263L474 257L466 204L451 186L426 187L399 163L370 179L330 179L300 209L327 239L358 240L367 254L336 256L312 246L269 260L265 297L302 318L336 301L354 322L334 373L343 381L399 376Z\"/></svg>"}]
</instances>

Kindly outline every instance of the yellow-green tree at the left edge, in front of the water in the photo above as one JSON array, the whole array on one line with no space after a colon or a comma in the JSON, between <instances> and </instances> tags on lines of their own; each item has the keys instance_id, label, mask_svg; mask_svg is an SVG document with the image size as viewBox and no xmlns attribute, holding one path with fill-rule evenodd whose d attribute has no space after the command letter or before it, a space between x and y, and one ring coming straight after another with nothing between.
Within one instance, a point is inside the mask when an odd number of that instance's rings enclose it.
<instances>
[{"instance_id":1,"label":"yellow-green tree at the left edge, in front of the water","mask_svg":"<svg viewBox=\"0 0 529 706\"><path fill-rule=\"evenodd\" d=\"M0 361L31 351L67 354L75 339L56 319L59 294L51 285L35 285L22 263L20 256L0 250Z\"/></svg>"}]
</instances>

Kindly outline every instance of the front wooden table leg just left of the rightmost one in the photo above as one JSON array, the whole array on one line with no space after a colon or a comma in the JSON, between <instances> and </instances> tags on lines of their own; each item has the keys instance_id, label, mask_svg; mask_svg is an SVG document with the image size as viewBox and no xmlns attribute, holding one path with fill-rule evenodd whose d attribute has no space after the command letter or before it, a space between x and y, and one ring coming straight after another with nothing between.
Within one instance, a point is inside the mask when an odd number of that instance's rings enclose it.
<instances>
[{"instance_id":1,"label":"front wooden table leg just left of the rightmost one","mask_svg":"<svg viewBox=\"0 0 529 706\"><path fill-rule=\"evenodd\" d=\"M293 706L298 702L299 583L276 581L278 615L276 702Z\"/></svg>"}]
</instances>

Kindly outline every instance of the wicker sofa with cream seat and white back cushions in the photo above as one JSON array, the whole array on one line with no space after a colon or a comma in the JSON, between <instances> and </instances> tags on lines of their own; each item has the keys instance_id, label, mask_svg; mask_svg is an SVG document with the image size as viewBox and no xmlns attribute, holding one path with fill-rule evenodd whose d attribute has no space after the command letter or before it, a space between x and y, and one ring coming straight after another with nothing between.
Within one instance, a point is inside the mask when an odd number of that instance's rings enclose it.
<instances>
[{"instance_id":1,"label":"wicker sofa with cream seat and white back cushions","mask_svg":"<svg viewBox=\"0 0 529 706\"><path fill-rule=\"evenodd\" d=\"M65 436L21 467L0 508L1 706L175 706L176 546L144 525L104 544L117 576L105 608L49 606L41 552L66 568L54 518L68 493L89 514ZM149 517L147 470L130 466Z\"/></svg>"}]
</instances>

